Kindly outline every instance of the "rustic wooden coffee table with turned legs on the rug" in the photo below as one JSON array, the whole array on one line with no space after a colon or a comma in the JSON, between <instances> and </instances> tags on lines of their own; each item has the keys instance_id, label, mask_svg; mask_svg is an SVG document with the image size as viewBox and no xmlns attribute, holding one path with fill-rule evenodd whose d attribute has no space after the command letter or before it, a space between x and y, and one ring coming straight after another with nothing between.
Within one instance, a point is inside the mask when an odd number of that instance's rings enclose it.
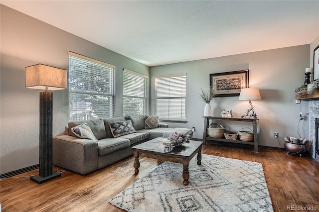
<instances>
[{"instance_id":1,"label":"rustic wooden coffee table with turned legs on the rug","mask_svg":"<svg viewBox=\"0 0 319 212\"><path fill-rule=\"evenodd\" d=\"M201 164L201 146L203 142L190 140L189 142L186 142L181 146L174 147L171 152L164 152L163 141L167 141L167 138L154 138L150 141L146 141L144 143L132 147L132 150L134 151L133 154L135 157L135 174L139 173L140 156L159 159L163 161L181 163L183 164L183 184L187 186L189 179L189 161L194 157L195 154L197 154L197 165Z\"/></svg>"}]
</instances>

